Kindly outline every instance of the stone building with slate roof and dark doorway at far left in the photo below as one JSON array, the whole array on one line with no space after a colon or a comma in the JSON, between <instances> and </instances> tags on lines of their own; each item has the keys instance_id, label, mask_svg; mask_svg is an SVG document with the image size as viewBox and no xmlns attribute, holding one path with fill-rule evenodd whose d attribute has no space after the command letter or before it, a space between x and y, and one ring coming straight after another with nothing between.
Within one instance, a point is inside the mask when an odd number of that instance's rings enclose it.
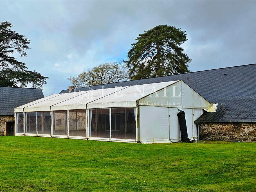
<instances>
[{"instance_id":1,"label":"stone building with slate roof and dark doorway at far left","mask_svg":"<svg viewBox=\"0 0 256 192\"><path fill-rule=\"evenodd\" d=\"M14 134L14 108L44 97L42 89L0 87L0 136ZM23 123L23 118L19 118Z\"/></svg>"}]
</instances>

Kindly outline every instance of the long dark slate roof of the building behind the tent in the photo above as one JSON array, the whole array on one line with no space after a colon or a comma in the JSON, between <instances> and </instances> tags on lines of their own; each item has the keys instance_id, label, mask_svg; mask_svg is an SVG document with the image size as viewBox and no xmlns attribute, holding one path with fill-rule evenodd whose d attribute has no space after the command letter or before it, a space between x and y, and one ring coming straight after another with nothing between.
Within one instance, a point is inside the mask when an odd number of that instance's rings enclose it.
<instances>
[{"instance_id":1,"label":"long dark slate roof of the building behind the tent","mask_svg":"<svg viewBox=\"0 0 256 192\"><path fill-rule=\"evenodd\" d=\"M112 88L175 80L183 80L210 103L218 103L215 113L206 112L196 122L256 121L256 64L110 83L103 86ZM101 85L90 88L102 89ZM87 87L78 89L89 90ZM67 89L60 93L68 92Z\"/></svg>"}]
</instances>

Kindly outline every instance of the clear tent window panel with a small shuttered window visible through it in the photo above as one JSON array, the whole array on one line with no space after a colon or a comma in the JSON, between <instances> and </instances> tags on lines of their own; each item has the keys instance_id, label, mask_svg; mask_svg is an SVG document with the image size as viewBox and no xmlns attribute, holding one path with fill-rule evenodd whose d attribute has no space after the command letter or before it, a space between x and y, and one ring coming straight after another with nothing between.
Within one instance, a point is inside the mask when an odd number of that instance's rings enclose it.
<instances>
[{"instance_id":1,"label":"clear tent window panel with a small shuttered window visible through it","mask_svg":"<svg viewBox=\"0 0 256 192\"><path fill-rule=\"evenodd\" d=\"M53 135L68 135L68 111L54 111Z\"/></svg>"}]
</instances>

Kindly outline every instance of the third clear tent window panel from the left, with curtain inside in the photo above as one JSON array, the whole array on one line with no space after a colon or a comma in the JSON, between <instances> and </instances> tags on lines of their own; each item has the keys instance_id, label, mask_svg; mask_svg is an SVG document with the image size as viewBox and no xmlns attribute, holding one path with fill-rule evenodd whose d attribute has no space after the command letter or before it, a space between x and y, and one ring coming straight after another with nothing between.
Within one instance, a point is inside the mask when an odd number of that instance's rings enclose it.
<instances>
[{"instance_id":1,"label":"third clear tent window panel from the left, with curtain inside","mask_svg":"<svg viewBox=\"0 0 256 192\"><path fill-rule=\"evenodd\" d=\"M37 112L37 133L51 134L51 113L50 111Z\"/></svg>"}]
</instances>

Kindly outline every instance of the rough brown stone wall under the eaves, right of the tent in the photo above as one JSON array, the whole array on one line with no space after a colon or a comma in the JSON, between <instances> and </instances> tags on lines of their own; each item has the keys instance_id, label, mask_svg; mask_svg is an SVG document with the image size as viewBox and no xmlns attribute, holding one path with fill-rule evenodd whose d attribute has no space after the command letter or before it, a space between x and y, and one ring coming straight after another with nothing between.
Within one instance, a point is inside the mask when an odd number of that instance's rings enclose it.
<instances>
[{"instance_id":1,"label":"rough brown stone wall under the eaves, right of the tent","mask_svg":"<svg viewBox=\"0 0 256 192\"><path fill-rule=\"evenodd\" d=\"M256 123L199 123L200 140L256 140Z\"/></svg>"}]
</instances>

